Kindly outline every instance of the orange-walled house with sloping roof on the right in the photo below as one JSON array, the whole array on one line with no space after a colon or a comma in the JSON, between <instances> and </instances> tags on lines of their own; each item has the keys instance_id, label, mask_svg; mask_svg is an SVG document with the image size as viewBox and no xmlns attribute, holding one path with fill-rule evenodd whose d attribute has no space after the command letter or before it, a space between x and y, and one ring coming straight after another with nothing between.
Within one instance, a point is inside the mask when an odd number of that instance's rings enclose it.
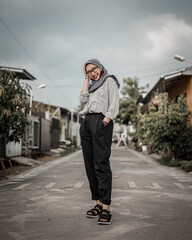
<instances>
[{"instance_id":1,"label":"orange-walled house with sloping roof on the right","mask_svg":"<svg viewBox=\"0 0 192 240\"><path fill-rule=\"evenodd\" d=\"M186 95L188 109L192 112L192 67L183 68L160 77L159 81L142 99L144 109L158 93L168 93L168 98L177 101L178 96ZM191 119L192 124L192 119Z\"/></svg>"}]
</instances>

